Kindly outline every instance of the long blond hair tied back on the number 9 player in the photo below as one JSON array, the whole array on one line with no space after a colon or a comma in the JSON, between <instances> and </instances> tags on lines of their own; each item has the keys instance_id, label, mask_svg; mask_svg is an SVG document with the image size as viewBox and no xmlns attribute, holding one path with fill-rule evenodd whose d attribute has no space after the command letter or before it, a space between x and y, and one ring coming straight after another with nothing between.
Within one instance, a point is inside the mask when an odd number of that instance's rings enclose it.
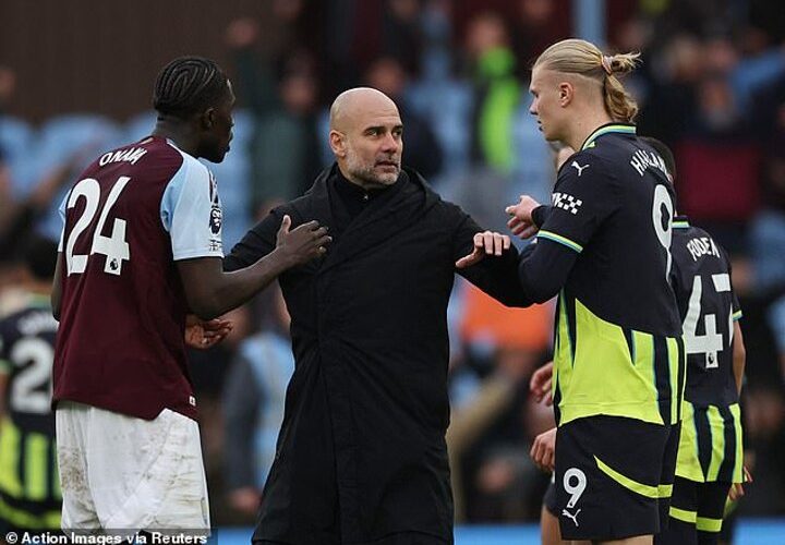
<instances>
[{"instance_id":1,"label":"long blond hair tied back on the number 9 player","mask_svg":"<svg viewBox=\"0 0 785 545\"><path fill-rule=\"evenodd\" d=\"M601 83L605 109L611 118L629 123L638 113L638 105L616 74L624 75L635 70L639 58L640 53L603 55L594 44L572 38L548 47L538 57L534 68L580 74Z\"/></svg>"}]
</instances>

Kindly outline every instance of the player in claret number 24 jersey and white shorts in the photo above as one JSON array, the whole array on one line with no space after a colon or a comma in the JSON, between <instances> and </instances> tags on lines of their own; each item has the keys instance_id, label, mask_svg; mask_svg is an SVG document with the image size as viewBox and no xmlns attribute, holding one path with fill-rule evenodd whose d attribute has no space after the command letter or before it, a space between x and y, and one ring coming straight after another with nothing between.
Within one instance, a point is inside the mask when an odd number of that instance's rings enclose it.
<instances>
[{"instance_id":1,"label":"player in claret number 24 jersey and white shorts","mask_svg":"<svg viewBox=\"0 0 785 545\"><path fill-rule=\"evenodd\" d=\"M330 240L315 221L290 231L285 217L273 253L224 272L218 185L196 159L219 162L229 149L231 84L213 61L180 58L159 73L153 102L153 134L98 157L61 207L52 307L64 529L209 531L186 315L221 315Z\"/></svg>"}]
</instances>

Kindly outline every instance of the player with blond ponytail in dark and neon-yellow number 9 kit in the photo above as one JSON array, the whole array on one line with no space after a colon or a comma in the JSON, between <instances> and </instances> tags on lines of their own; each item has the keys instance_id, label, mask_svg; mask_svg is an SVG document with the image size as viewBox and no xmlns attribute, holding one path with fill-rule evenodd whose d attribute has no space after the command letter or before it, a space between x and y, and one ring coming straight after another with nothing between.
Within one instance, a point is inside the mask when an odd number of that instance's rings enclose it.
<instances>
[{"instance_id":1,"label":"player with blond ponytail in dark and neon-yellow number 9 kit","mask_svg":"<svg viewBox=\"0 0 785 545\"><path fill-rule=\"evenodd\" d=\"M538 232L520 265L527 295L558 294L554 347L556 505L563 538L651 543L667 524L684 389L684 346L668 283L673 187L630 124L617 75L636 55L569 39L533 66L531 113L578 152L551 206L507 208Z\"/></svg>"}]
</instances>

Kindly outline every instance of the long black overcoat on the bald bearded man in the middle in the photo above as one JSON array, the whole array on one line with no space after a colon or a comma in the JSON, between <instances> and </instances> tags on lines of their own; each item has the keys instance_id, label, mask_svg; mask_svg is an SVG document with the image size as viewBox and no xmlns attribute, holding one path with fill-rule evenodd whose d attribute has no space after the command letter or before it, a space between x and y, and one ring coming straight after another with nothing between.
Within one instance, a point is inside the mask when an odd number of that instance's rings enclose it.
<instances>
[{"instance_id":1,"label":"long black overcoat on the bald bearded man in the middle","mask_svg":"<svg viewBox=\"0 0 785 545\"><path fill-rule=\"evenodd\" d=\"M292 229L330 226L335 169L249 231L225 268L271 252L285 214ZM297 365L254 540L323 545L419 532L452 542L446 311L455 262L481 229L414 171L389 191L324 257L279 277ZM523 306L517 266L512 247L459 272Z\"/></svg>"}]
</instances>

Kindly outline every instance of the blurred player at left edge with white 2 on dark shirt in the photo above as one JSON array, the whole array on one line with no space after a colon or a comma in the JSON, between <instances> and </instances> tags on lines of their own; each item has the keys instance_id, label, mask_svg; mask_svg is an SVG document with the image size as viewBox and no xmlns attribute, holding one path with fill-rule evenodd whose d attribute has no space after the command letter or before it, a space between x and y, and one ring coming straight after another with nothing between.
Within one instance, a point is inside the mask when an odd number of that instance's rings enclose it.
<instances>
[{"instance_id":1,"label":"blurred player at left edge with white 2 on dark shirt","mask_svg":"<svg viewBox=\"0 0 785 545\"><path fill-rule=\"evenodd\" d=\"M0 320L0 535L60 528L51 367L55 332L49 294L57 245L25 241L26 303Z\"/></svg>"}]
</instances>

